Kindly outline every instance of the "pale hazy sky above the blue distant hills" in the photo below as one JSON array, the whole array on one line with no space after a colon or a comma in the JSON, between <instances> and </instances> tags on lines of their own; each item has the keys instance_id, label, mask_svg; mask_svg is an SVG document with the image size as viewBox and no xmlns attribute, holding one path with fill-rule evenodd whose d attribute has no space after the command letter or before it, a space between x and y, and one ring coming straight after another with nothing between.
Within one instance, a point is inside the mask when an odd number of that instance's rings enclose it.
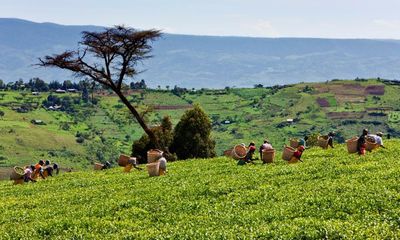
<instances>
[{"instance_id":1,"label":"pale hazy sky above the blue distant hills","mask_svg":"<svg viewBox=\"0 0 400 240\"><path fill-rule=\"evenodd\" d=\"M0 0L0 17L169 33L400 39L400 0Z\"/></svg>"}]
</instances>

